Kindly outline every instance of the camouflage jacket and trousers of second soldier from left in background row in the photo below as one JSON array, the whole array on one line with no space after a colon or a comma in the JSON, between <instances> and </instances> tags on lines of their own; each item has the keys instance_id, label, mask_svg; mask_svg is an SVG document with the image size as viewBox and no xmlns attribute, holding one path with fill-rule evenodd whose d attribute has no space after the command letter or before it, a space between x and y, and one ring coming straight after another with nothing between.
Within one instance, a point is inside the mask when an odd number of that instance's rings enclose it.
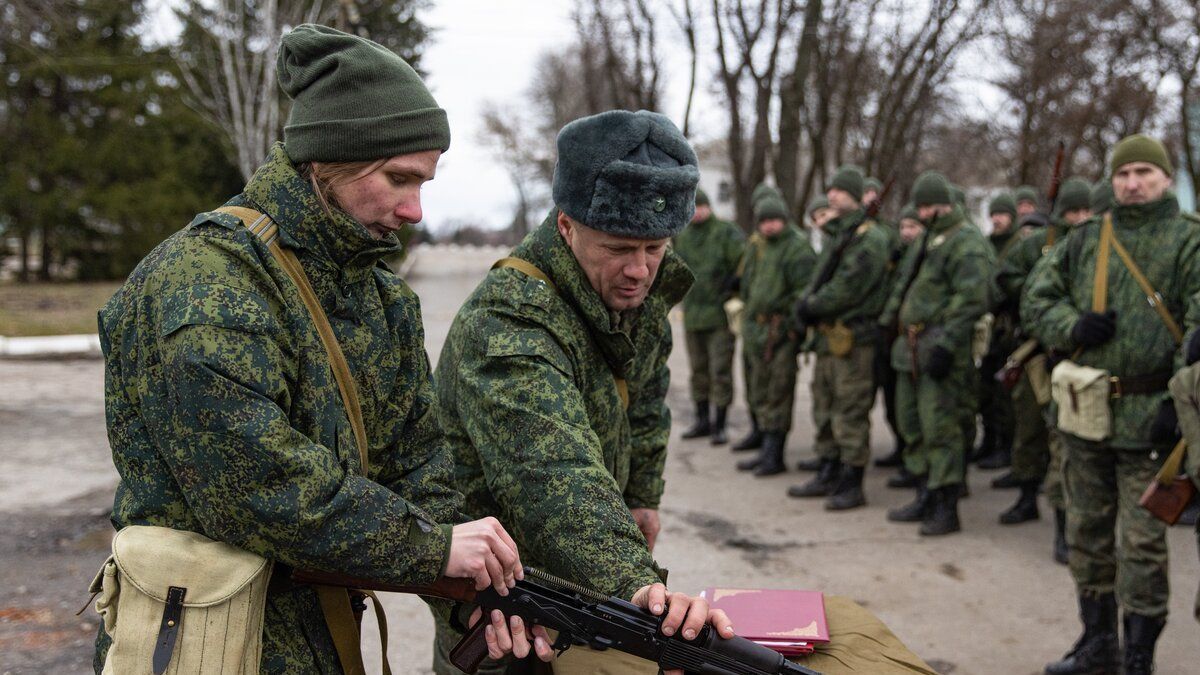
<instances>
[{"instance_id":1,"label":"camouflage jacket and trousers of second soldier from left in background row","mask_svg":"<svg viewBox=\"0 0 1200 675\"><path fill-rule=\"evenodd\" d=\"M750 412L763 431L792 428L796 352L792 309L812 276L816 253L799 229L751 238L742 275L742 353Z\"/></svg>"}]
</instances>

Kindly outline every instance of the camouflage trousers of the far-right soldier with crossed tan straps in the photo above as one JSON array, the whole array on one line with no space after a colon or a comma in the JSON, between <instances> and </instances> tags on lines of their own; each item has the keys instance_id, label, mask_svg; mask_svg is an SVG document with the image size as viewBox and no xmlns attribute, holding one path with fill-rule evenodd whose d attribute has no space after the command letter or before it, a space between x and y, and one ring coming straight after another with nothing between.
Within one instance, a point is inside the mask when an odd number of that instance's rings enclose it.
<instances>
[{"instance_id":1,"label":"camouflage trousers of the far-right soldier with crossed tan straps","mask_svg":"<svg viewBox=\"0 0 1200 675\"><path fill-rule=\"evenodd\" d=\"M1138 506L1166 449L1116 449L1062 434L1067 545L1080 593L1115 592L1124 611L1166 616L1166 524Z\"/></svg>"}]
</instances>

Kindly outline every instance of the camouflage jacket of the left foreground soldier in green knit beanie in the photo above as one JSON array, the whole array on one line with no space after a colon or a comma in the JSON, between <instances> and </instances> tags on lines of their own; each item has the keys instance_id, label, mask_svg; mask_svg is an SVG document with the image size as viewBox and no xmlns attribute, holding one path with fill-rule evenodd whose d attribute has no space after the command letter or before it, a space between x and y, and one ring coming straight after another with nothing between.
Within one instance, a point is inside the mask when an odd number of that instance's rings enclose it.
<instances>
[{"instance_id":1,"label":"camouflage jacket of the left foreground soldier in green knit beanie","mask_svg":"<svg viewBox=\"0 0 1200 675\"><path fill-rule=\"evenodd\" d=\"M204 213L100 312L113 524L199 532L299 568L432 581L462 496L446 488L418 299L379 264L398 244L326 216L282 145L230 204L269 214L308 275L358 386L370 473L295 285L241 221ZM341 671L311 587L269 596L262 664Z\"/></svg>"}]
</instances>

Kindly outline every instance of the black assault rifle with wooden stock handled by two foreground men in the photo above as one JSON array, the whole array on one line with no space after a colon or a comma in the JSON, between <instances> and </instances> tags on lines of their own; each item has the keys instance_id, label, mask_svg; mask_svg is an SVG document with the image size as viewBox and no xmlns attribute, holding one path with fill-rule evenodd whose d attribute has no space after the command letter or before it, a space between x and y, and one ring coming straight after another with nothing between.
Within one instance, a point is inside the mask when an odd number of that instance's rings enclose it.
<instances>
[{"instance_id":1,"label":"black assault rifle with wooden stock handled by two foreground men","mask_svg":"<svg viewBox=\"0 0 1200 675\"><path fill-rule=\"evenodd\" d=\"M527 626L558 631L553 645L558 653L571 645L587 645L653 661L664 669L682 668L688 674L820 675L745 638L721 638L708 625L692 640L664 635L660 631L662 616L654 616L632 603L602 596L530 567L524 568L524 579L517 581L506 596L500 596L492 587L476 591L470 579L445 577L430 586L398 586L341 574L298 571L292 574L292 580L474 603L485 616L498 609L508 616L520 616ZM475 673L487 656L484 637L487 625L485 619L478 621L450 651L450 662L460 670Z\"/></svg>"}]
</instances>

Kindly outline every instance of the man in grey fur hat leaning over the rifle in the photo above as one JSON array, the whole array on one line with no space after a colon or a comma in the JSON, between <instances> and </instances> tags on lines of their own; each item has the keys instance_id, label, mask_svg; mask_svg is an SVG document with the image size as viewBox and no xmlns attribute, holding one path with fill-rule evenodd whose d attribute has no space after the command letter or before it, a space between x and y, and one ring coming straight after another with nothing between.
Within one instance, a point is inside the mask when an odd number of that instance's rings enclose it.
<instances>
[{"instance_id":1,"label":"man in grey fur hat leaning over the rifle","mask_svg":"<svg viewBox=\"0 0 1200 675\"><path fill-rule=\"evenodd\" d=\"M551 574L666 605L664 633L688 639L707 619L732 634L703 599L667 596L652 556L671 430L667 312L692 283L668 241L692 216L698 177L664 115L611 110L564 126L556 207L458 310L436 377L467 512L497 515ZM440 621L437 632L434 669L450 673L457 635ZM601 668L656 671L586 647L554 669Z\"/></svg>"}]
</instances>

